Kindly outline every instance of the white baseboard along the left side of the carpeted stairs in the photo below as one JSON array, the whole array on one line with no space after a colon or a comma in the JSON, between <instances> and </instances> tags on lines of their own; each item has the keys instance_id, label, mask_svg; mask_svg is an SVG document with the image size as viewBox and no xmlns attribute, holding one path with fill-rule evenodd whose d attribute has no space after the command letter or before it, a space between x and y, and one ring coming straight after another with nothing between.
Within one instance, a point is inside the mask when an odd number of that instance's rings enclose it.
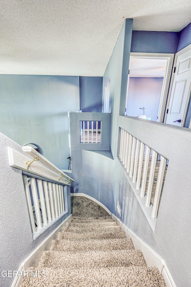
<instances>
[{"instance_id":1,"label":"white baseboard along the left side of the carpeted stairs","mask_svg":"<svg viewBox=\"0 0 191 287\"><path fill-rule=\"evenodd\" d=\"M22 271L27 270L30 266L38 266L42 253L50 248L52 241L57 238L58 233L63 230L63 227L67 225L67 222L69 222L71 217L72 215L68 216L49 236L47 236L46 239L44 239L43 242L38 245L38 247L21 263L18 271L22 273ZM23 277L16 276L11 287L19 287L22 279Z\"/></svg>"}]
</instances>

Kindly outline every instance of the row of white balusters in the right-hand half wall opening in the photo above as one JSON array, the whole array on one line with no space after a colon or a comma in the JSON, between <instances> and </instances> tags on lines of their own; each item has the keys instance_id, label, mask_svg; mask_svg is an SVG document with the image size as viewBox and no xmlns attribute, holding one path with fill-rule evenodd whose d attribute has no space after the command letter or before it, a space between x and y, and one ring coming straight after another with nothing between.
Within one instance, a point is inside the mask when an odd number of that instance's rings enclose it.
<instances>
[{"instance_id":1,"label":"row of white balusters in the right-hand half wall opening","mask_svg":"<svg viewBox=\"0 0 191 287\"><path fill-rule=\"evenodd\" d=\"M135 188L140 190L140 196L145 197L146 194L146 207L153 204L152 218L157 217L167 169L167 159L160 155L160 161L157 161L157 157L155 150L121 129L119 158L130 178L133 177L132 181Z\"/></svg>"}]
</instances>

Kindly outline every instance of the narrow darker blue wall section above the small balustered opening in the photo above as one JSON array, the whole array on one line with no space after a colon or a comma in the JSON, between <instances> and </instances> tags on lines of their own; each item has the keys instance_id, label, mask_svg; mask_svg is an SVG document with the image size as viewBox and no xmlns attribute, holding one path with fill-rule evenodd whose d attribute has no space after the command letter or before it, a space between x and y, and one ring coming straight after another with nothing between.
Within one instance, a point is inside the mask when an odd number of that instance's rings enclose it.
<instances>
[{"instance_id":1,"label":"narrow darker blue wall section above the small balustered opening","mask_svg":"<svg viewBox=\"0 0 191 287\"><path fill-rule=\"evenodd\" d=\"M82 112L102 112L103 77L80 77L80 109Z\"/></svg>"}]
</instances>

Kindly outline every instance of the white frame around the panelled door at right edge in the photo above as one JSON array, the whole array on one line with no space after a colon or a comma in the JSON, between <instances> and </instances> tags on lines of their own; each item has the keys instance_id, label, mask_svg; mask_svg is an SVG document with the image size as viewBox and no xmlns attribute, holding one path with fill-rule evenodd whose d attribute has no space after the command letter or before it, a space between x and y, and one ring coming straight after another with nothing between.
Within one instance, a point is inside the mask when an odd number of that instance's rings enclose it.
<instances>
[{"instance_id":1,"label":"white frame around the panelled door at right edge","mask_svg":"<svg viewBox=\"0 0 191 287\"><path fill-rule=\"evenodd\" d=\"M176 67L176 62L177 62L178 56L180 56L181 54L185 53L186 51L188 51L190 49L191 49L191 44L188 45L187 47L183 48L182 50L178 51L175 54L173 69ZM164 123L166 123L166 120L167 120L167 109L169 108L169 102L170 102L170 96L171 96L171 91L172 91L173 80L174 80L174 73L172 73L172 77L171 77L171 80L170 80L169 97L167 99L167 108L166 108L165 115L164 115ZM181 122L181 126L184 126L184 123L185 123L185 120L186 120L188 104L189 104L189 101L190 101L190 94L191 94L191 85L190 85L188 96L187 96L187 102L186 102L184 116L183 116L183 119L182 119L182 122Z\"/></svg>"}]
</instances>

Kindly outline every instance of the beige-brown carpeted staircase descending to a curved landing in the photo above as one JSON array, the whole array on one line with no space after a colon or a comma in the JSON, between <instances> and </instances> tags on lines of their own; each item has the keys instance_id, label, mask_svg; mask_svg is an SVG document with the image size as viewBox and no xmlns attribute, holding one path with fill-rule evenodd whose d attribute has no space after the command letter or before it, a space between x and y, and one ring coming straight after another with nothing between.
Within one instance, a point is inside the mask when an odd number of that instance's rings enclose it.
<instances>
[{"instance_id":1,"label":"beige-brown carpeted staircase descending to a curved landing","mask_svg":"<svg viewBox=\"0 0 191 287\"><path fill-rule=\"evenodd\" d=\"M143 254L109 214L85 197L72 197L73 217L44 251L22 287L165 287L156 267L147 267ZM28 272L30 273L30 272Z\"/></svg>"}]
</instances>

